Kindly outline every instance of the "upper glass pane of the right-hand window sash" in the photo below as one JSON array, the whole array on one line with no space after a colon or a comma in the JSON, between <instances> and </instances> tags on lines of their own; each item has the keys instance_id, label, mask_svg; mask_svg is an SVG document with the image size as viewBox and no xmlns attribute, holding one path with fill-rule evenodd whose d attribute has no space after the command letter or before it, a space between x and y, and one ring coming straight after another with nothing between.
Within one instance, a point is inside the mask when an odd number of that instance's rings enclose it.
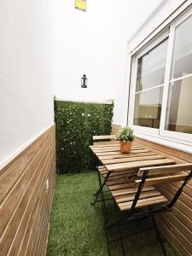
<instances>
[{"instance_id":1,"label":"upper glass pane of the right-hand window sash","mask_svg":"<svg viewBox=\"0 0 192 256\"><path fill-rule=\"evenodd\" d=\"M171 78L192 73L192 16L176 27Z\"/></svg>"}]
</instances>

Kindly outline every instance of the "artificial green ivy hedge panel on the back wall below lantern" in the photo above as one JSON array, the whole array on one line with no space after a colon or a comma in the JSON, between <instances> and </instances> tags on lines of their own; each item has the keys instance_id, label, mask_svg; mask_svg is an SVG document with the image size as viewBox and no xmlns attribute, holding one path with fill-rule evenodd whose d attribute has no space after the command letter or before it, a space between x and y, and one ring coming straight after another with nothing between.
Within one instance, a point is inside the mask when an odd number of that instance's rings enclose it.
<instances>
[{"instance_id":1,"label":"artificial green ivy hedge panel on the back wall below lantern","mask_svg":"<svg viewBox=\"0 0 192 256\"><path fill-rule=\"evenodd\" d=\"M111 133L113 102L55 101L57 172L81 172L94 167L89 145L94 135Z\"/></svg>"}]
</instances>

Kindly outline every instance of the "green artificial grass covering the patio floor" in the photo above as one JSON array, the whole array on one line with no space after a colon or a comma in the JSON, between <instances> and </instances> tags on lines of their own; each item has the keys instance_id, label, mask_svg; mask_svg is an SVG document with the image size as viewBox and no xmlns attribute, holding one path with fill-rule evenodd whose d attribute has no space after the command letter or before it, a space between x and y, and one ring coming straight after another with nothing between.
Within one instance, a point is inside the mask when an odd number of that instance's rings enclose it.
<instances>
[{"instance_id":1,"label":"green artificial grass covering the patio floor","mask_svg":"<svg viewBox=\"0 0 192 256\"><path fill-rule=\"evenodd\" d=\"M49 256L108 256L103 217L100 203L90 206L93 193L98 188L96 172L68 174L56 178L55 199L51 211L49 230ZM145 229L148 223L133 223L125 230ZM117 230L111 230L115 238ZM163 255L154 231L147 231L124 241L130 256ZM172 247L166 243L167 255L173 256ZM111 246L112 256L121 256L120 243Z\"/></svg>"}]
</instances>

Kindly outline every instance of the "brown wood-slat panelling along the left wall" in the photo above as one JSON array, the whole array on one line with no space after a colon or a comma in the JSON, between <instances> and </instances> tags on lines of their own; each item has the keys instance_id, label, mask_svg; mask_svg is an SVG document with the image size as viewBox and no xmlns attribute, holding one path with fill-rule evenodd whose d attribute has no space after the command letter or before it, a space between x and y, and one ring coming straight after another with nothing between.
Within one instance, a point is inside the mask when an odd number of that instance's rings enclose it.
<instances>
[{"instance_id":1,"label":"brown wood-slat panelling along the left wall","mask_svg":"<svg viewBox=\"0 0 192 256\"><path fill-rule=\"evenodd\" d=\"M55 125L0 171L1 256L46 254L54 189Z\"/></svg>"}]
</instances>

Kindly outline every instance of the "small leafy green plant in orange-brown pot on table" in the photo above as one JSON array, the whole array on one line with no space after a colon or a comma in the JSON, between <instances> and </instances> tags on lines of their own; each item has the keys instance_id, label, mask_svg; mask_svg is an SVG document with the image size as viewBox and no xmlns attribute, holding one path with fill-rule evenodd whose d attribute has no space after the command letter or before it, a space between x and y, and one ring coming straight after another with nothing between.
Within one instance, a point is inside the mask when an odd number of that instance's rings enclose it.
<instances>
[{"instance_id":1,"label":"small leafy green plant in orange-brown pot on table","mask_svg":"<svg viewBox=\"0 0 192 256\"><path fill-rule=\"evenodd\" d=\"M120 151L122 153L129 153L131 151L134 137L131 127L123 127L116 133L116 139L120 142Z\"/></svg>"}]
</instances>

